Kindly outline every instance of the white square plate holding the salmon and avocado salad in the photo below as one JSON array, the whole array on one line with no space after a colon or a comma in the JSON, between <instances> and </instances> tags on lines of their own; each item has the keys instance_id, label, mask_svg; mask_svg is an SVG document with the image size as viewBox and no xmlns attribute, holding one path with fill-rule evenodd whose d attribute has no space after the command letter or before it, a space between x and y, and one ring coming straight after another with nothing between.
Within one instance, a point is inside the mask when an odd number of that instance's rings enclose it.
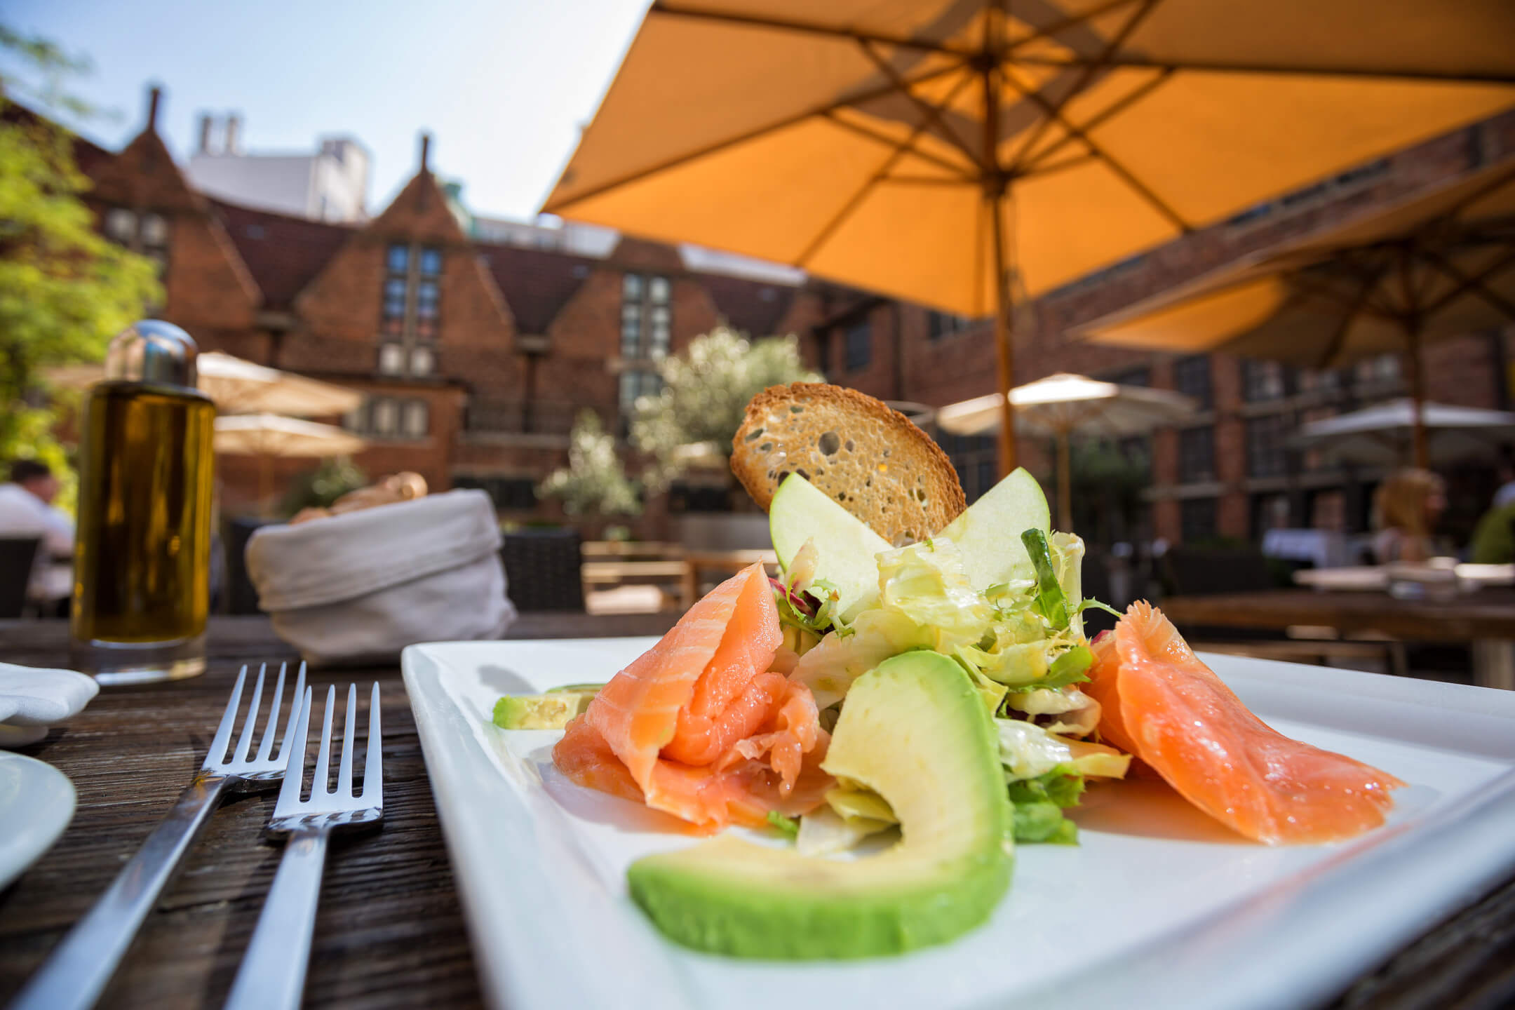
<instances>
[{"instance_id":1,"label":"white square plate holding the salmon and avocado salad","mask_svg":"<svg viewBox=\"0 0 1515 1010\"><path fill-rule=\"evenodd\" d=\"M636 857L694 843L553 768L556 731L489 725L501 694L608 680L654 639L405 651L458 890L495 1007L1303 1007L1515 866L1515 694L1232 656L1206 662L1268 724L1403 778L1353 842L1245 842L1160 783L1091 789L1079 846L1023 845L962 939L894 959L774 963L665 940Z\"/></svg>"}]
</instances>

